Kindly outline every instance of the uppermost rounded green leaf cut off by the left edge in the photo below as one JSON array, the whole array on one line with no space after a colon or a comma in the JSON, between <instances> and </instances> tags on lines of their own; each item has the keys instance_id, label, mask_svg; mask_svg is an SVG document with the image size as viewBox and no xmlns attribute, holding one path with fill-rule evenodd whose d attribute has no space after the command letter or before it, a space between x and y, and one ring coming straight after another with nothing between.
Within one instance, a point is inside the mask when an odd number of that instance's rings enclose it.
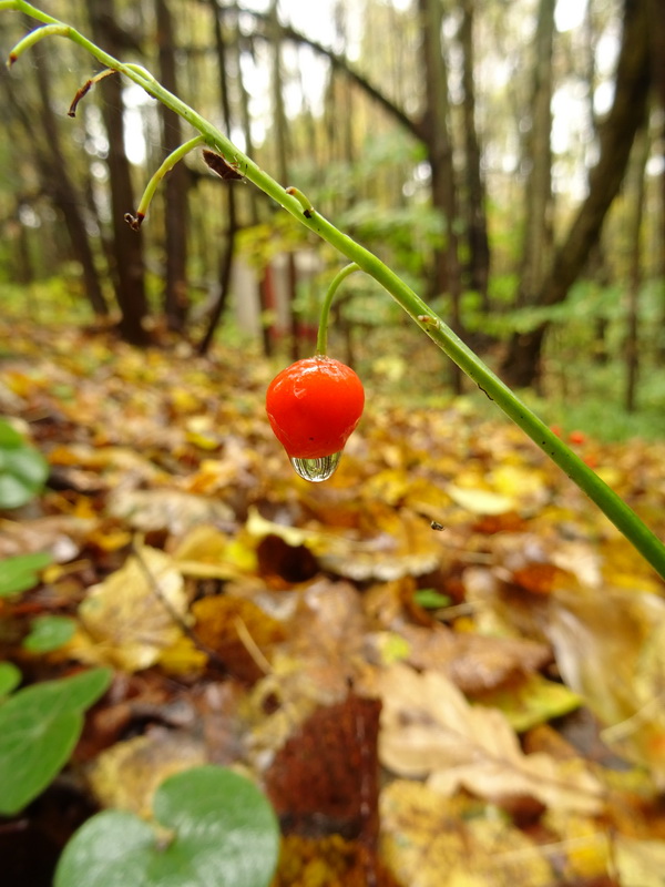
<instances>
[{"instance_id":1,"label":"uppermost rounded green leaf cut off by the left edge","mask_svg":"<svg viewBox=\"0 0 665 887\"><path fill-rule=\"evenodd\" d=\"M44 457L0 419L0 508L20 508L42 489L49 476Z\"/></svg>"}]
</instances>

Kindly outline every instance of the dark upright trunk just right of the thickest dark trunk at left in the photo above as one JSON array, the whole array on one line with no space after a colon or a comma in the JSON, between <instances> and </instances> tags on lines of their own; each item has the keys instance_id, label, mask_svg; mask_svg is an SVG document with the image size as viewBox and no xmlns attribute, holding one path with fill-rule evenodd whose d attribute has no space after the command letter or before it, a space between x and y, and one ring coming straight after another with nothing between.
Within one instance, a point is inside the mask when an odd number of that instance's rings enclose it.
<instances>
[{"instance_id":1,"label":"dark upright trunk just right of the thickest dark trunk at left","mask_svg":"<svg viewBox=\"0 0 665 887\"><path fill-rule=\"evenodd\" d=\"M155 0L160 79L170 92L177 94L175 38L173 19L166 0ZM182 122L166 105L160 103L162 142L166 153L183 142ZM187 292L187 167L176 163L164 180L166 281L164 314L168 329L182 333L188 310Z\"/></svg>"}]
</instances>

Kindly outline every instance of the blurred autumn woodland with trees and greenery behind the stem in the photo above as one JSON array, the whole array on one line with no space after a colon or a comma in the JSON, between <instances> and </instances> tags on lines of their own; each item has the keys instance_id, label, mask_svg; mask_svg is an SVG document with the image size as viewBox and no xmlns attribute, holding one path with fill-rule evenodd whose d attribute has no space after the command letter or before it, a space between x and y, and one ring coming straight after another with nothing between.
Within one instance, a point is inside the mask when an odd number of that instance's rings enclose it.
<instances>
[{"instance_id":1,"label":"blurred autumn woodland with trees and greenery behind the stem","mask_svg":"<svg viewBox=\"0 0 665 887\"><path fill-rule=\"evenodd\" d=\"M659 0L60 0L48 12L146 67L376 252L509 384L663 435L665 162ZM6 16L4 54L33 22ZM0 82L0 288L137 345L313 349L340 257L253 185L188 155L140 233L123 221L195 133L95 62L38 44ZM369 278L331 351L409 397L463 381ZM422 395L422 392L421 392ZM422 395L426 397L426 395ZM557 412L559 410L559 412Z\"/></svg>"}]
</instances>

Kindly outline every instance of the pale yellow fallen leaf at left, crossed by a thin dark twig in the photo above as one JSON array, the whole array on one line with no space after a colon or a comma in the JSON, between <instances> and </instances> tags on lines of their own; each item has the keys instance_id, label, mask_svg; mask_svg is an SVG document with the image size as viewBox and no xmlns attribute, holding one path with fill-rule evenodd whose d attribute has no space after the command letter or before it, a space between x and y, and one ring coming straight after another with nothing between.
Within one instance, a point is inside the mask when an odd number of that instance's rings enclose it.
<instances>
[{"instance_id":1,"label":"pale yellow fallen leaf at left, crossed by a thin dark twig","mask_svg":"<svg viewBox=\"0 0 665 887\"><path fill-rule=\"evenodd\" d=\"M186 619L183 578L172 558L140 547L124 567L88 590L79 606L83 631L69 645L71 655L129 672L147 669L182 635L174 620Z\"/></svg>"}]
</instances>

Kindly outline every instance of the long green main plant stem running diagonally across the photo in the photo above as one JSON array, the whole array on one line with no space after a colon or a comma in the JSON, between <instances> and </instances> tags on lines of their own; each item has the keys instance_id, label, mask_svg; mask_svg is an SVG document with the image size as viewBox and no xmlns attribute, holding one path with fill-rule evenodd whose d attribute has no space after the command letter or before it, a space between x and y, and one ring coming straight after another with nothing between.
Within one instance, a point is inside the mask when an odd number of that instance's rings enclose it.
<instances>
[{"instance_id":1,"label":"long green main plant stem running diagonally across the photo","mask_svg":"<svg viewBox=\"0 0 665 887\"><path fill-rule=\"evenodd\" d=\"M66 37L90 52L103 67L112 68L137 83L154 99L180 114L198 133L203 141L238 172L276 201L303 225L336 247L351 263L374 277L411 318L423 329L469 378L500 407L520 428L573 480L617 529L628 539L643 557L665 579L665 546L640 520L637 514L601 478L592 471L548 426L541 421L499 379L479 357L438 317L422 299L388 268L377 256L340 232L315 211L305 195L297 188L285 188L264 172L254 161L239 151L216 126L164 89L145 69L136 64L124 64L101 50L91 40L63 22L42 12L25 0L0 0L0 10L13 9L30 16L51 29L32 31L21 40L10 53L14 62L27 49L42 37L54 34Z\"/></svg>"}]
</instances>

